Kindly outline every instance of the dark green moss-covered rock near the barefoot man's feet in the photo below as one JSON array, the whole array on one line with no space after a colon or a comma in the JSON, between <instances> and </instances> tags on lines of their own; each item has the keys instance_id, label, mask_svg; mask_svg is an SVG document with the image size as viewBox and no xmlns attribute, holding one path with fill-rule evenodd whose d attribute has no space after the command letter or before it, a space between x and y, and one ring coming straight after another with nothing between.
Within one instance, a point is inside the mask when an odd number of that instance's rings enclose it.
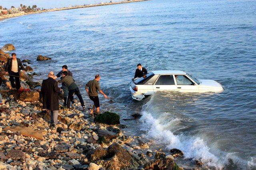
<instances>
[{"instance_id":1,"label":"dark green moss-covered rock near the barefoot man's feet","mask_svg":"<svg viewBox=\"0 0 256 170\"><path fill-rule=\"evenodd\" d=\"M104 123L108 125L119 125L120 124L120 116L116 113L111 113L106 111L103 114L99 114L94 119L95 122Z\"/></svg>"}]
</instances>

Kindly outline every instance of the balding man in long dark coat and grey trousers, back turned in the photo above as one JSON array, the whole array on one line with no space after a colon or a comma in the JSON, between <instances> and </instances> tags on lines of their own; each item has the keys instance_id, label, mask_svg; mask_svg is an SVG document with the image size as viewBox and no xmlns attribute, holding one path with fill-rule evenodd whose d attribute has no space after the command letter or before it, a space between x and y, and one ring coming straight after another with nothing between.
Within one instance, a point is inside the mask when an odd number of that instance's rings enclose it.
<instances>
[{"instance_id":1,"label":"balding man in long dark coat and grey trousers, back turned","mask_svg":"<svg viewBox=\"0 0 256 170\"><path fill-rule=\"evenodd\" d=\"M58 125L58 110L59 110L59 96L60 88L58 87L58 82L53 79L54 73L51 71L48 74L48 78L43 80L41 93L43 96L43 109L48 109L51 111L51 123L54 127Z\"/></svg>"}]
</instances>

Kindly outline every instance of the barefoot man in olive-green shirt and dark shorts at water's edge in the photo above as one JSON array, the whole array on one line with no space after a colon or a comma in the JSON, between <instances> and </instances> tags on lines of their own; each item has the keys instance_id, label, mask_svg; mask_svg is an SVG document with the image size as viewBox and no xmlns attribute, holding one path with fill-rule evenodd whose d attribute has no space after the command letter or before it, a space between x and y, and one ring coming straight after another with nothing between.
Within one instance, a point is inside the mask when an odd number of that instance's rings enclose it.
<instances>
[{"instance_id":1,"label":"barefoot man in olive-green shirt and dark shorts at water's edge","mask_svg":"<svg viewBox=\"0 0 256 170\"><path fill-rule=\"evenodd\" d=\"M108 96L106 94L104 94L104 92L102 92L102 90L100 89L100 75L97 74L94 78L94 80L90 80L86 86L85 86L85 90L90 98L90 100L93 101L94 105L92 107L92 110L90 112L91 115L93 115L93 111L96 108L96 113L99 114L100 113L100 101L98 98L98 92L100 92L101 94L104 95L105 98L108 98Z\"/></svg>"}]
</instances>

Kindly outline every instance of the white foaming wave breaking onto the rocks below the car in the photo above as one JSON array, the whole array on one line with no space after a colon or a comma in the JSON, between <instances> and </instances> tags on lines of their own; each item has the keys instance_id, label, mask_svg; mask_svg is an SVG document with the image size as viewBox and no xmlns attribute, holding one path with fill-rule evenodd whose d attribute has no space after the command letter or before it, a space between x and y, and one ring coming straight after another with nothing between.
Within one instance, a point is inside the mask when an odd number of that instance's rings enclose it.
<instances>
[{"instance_id":1,"label":"white foaming wave breaking onto the rocks below the car","mask_svg":"<svg viewBox=\"0 0 256 170\"><path fill-rule=\"evenodd\" d=\"M217 149L214 145L207 145L207 142L198 135L190 135L186 122L188 118L177 117L167 112L162 112L160 107L154 106L156 102L154 96L146 103L142 111L140 121L146 129L146 135L166 149L180 149L184 152L184 158L192 160L201 160L204 166L214 167L216 169L248 169L254 168L256 159L252 158L246 165L246 161L238 157L239 153L227 153ZM173 107L175 109L175 107ZM184 123L185 122L185 123ZM183 123L183 124L182 124ZM178 133L177 129L188 129L187 132Z\"/></svg>"}]
</instances>

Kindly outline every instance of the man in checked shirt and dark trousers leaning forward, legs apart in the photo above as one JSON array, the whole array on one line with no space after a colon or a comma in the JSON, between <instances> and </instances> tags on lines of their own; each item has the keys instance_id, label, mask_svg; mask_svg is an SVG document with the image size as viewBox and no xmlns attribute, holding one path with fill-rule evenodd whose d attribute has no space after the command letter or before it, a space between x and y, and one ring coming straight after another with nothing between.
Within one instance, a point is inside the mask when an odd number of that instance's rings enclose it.
<instances>
[{"instance_id":1,"label":"man in checked shirt and dark trousers leaning forward, legs apart","mask_svg":"<svg viewBox=\"0 0 256 170\"><path fill-rule=\"evenodd\" d=\"M78 97L81 106L83 108L85 108L84 105L84 100L80 94L80 91L78 89L78 86L75 83L75 80L73 79L72 76L68 76L68 72L64 71L62 72L62 80L58 81L58 82L64 82L64 84L66 86L68 86L68 102L67 102L67 107L70 108L70 100L73 98L73 95L76 94L76 96Z\"/></svg>"}]
</instances>

